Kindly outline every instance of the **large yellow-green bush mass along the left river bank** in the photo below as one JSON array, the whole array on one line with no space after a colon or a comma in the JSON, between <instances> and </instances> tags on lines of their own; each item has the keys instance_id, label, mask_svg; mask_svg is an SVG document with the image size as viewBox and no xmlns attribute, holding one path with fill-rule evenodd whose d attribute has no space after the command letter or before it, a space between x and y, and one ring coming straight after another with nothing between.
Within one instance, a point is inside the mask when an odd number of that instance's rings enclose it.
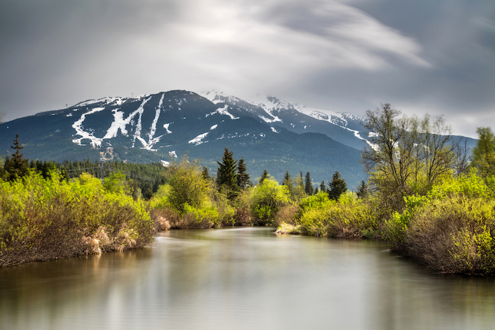
<instances>
[{"instance_id":1,"label":"large yellow-green bush mass along the left river bank","mask_svg":"<svg viewBox=\"0 0 495 330\"><path fill-rule=\"evenodd\" d=\"M142 201L105 190L91 175L66 182L57 172L46 179L30 173L22 180L0 181L4 265L139 247L153 232Z\"/></svg>"}]
</instances>

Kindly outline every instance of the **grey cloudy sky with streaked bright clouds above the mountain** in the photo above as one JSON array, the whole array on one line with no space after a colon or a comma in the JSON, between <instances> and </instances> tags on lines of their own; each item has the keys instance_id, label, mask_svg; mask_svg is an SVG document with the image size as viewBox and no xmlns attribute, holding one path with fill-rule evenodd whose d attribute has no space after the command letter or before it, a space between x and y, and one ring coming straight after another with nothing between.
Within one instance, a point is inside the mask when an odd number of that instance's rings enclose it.
<instances>
[{"instance_id":1,"label":"grey cloudy sky with streaked bright clouds above the mountain","mask_svg":"<svg viewBox=\"0 0 495 330\"><path fill-rule=\"evenodd\" d=\"M493 0L2 0L4 121L185 89L495 129Z\"/></svg>"}]
</instances>

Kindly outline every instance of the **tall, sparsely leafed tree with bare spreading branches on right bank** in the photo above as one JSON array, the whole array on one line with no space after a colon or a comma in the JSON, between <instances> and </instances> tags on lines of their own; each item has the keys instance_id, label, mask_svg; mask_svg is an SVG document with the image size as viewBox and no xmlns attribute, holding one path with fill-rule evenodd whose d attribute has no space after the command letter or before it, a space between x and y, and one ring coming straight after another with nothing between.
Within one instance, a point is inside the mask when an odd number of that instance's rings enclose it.
<instances>
[{"instance_id":1,"label":"tall, sparsely leafed tree with bare spreading branches on right bank","mask_svg":"<svg viewBox=\"0 0 495 330\"><path fill-rule=\"evenodd\" d=\"M455 169L456 153L450 126L443 117L434 122L402 116L390 104L366 112L369 146L362 153L370 184L383 196L392 196L392 208L404 205L403 196L424 194Z\"/></svg>"}]
</instances>

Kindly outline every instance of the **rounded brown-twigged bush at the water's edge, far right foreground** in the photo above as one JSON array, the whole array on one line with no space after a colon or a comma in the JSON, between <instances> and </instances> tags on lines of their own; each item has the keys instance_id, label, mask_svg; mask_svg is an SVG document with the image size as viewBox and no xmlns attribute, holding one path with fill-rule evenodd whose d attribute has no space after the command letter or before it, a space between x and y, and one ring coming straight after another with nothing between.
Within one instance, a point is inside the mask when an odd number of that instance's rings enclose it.
<instances>
[{"instance_id":1,"label":"rounded brown-twigged bush at the water's edge, far right foreground","mask_svg":"<svg viewBox=\"0 0 495 330\"><path fill-rule=\"evenodd\" d=\"M495 202L453 196L422 207L402 249L443 273L493 273Z\"/></svg>"}]
</instances>

